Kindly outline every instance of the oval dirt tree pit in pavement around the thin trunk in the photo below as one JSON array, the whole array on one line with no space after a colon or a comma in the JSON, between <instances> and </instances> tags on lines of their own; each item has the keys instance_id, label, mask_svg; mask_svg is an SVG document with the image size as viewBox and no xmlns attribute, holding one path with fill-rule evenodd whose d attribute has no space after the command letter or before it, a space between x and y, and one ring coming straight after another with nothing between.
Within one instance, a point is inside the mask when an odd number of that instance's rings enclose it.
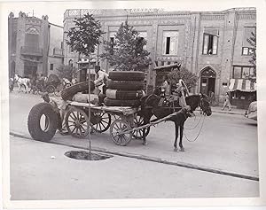
<instances>
[{"instance_id":1,"label":"oval dirt tree pit in pavement around the thin trunk","mask_svg":"<svg viewBox=\"0 0 266 210\"><path fill-rule=\"evenodd\" d=\"M66 157L71 159L82 159L82 160L102 160L102 159L113 158L113 156L87 152L87 151L69 151L66 152L65 155Z\"/></svg>"}]
</instances>

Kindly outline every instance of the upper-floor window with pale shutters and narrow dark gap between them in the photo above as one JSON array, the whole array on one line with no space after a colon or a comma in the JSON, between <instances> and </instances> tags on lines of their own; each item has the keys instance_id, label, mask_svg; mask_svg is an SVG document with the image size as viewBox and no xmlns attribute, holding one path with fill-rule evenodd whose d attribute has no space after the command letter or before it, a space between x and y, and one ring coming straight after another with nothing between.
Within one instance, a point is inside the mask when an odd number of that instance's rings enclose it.
<instances>
[{"instance_id":1,"label":"upper-floor window with pale shutters and narrow dark gap between them","mask_svg":"<svg viewBox=\"0 0 266 210\"><path fill-rule=\"evenodd\" d=\"M162 54L177 55L178 31L163 31L162 36Z\"/></svg>"}]
</instances>

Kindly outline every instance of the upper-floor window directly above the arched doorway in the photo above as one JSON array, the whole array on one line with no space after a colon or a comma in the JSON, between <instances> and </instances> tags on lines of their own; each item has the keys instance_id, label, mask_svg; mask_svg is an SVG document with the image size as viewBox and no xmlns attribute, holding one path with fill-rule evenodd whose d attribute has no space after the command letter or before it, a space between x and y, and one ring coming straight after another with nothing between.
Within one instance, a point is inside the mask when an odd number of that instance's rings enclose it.
<instances>
[{"instance_id":1,"label":"upper-floor window directly above the arched doorway","mask_svg":"<svg viewBox=\"0 0 266 210\"><path fill-rule=\"evenodd\" d=\"M218 36L203 34L203 51L204 55L216 55L218 45Z\"/></svg>"}]
</instances>

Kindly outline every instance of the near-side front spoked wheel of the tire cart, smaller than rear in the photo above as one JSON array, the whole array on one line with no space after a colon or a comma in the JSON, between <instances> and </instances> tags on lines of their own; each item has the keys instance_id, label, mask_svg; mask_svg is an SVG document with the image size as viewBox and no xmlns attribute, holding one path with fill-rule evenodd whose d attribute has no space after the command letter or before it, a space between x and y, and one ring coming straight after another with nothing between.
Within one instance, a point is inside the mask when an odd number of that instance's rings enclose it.
<instances>
[{"instance_id":1,"label":"near-side front spoked wheel of the tire cart, smaller than rear","mask_svg":"<svg viewBox=\"0 0 266 210\"><path fill-rule=\"evenodd\" d=\"M131 128L126 121L115 120L110 126L110 135L114 144L125 146L129 144L132 139ZM130 131L127 133L127 131ZM126 133L124 133L126 132Z\"/></svg>"}]
</instances>

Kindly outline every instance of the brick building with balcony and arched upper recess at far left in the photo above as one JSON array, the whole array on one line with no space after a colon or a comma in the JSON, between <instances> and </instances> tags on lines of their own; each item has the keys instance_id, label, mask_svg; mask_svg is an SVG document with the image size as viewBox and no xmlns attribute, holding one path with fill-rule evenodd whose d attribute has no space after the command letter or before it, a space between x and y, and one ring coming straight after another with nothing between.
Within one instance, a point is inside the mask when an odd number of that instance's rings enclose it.
<instances>
[{"instance_id":1,"label":"brick building with balcony and arched upper recess at far left","mask_svg":"<svg viewBox=\"0 0 266 210\"><path fill-rule=\"evenodd\" d=\"M42 19L28 17L20 12L15 18L8 17L9 74L31 77L33 75L56 74L63 64L63 27Z\"/></svg>"}]
</instances>

